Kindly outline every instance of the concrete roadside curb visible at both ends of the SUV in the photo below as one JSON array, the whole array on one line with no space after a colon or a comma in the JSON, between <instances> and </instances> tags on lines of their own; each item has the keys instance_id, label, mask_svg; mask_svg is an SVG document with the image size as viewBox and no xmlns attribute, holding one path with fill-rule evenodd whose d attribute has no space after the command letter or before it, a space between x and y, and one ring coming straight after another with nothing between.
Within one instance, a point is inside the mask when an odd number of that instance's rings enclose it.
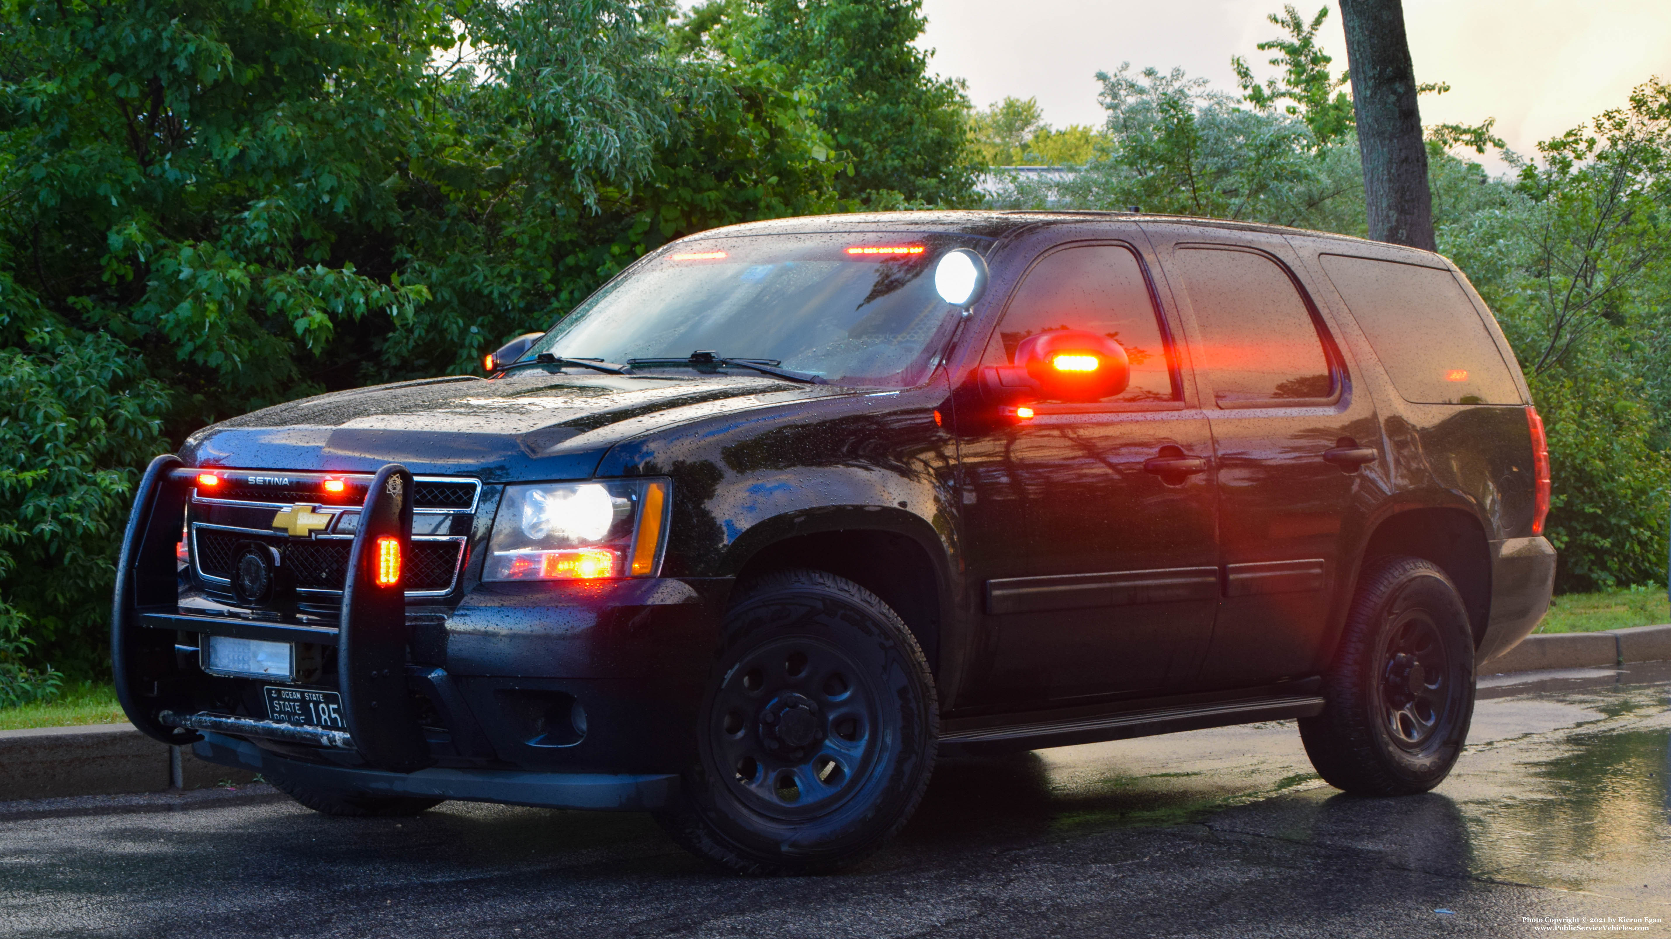
<instances>
[{"instance_id":1,"label":"concrete roadside curb visible at both ends of the SUV","mask_svg":"<svg viewBox=\"0 0 1671 939\"><path fill-rule=\"evenodd\" d=\"M1606 633L1541 633L1482 663L1481 675L1546 668L1613 668L1671 660L1671 625ZM129 723L0 730L0 802L132 792L182 792L251 772L207 764L190 747L167 747Z\"/></svg>"}]
</instances>

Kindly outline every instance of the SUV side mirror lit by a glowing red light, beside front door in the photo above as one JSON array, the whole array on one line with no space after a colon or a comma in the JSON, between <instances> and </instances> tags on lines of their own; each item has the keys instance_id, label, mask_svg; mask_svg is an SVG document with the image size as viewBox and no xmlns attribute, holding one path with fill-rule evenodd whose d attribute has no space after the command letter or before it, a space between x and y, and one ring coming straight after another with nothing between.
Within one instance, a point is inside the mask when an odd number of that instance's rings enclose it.
<instances>
[{"instance_id":1,"label":"SUV side mirror lit by a glowing red light, beside front door","mask_svg":"<svg viewBox=\"0 0 1671 939\"><path fill-rule=\"evenodd\" d=\"M1021 401L1101 401L1131 384L1131 361L1108 336L1053 329L1016 346L1016 364L981 369L988 398Z\"/></svg>"}]
</instances>

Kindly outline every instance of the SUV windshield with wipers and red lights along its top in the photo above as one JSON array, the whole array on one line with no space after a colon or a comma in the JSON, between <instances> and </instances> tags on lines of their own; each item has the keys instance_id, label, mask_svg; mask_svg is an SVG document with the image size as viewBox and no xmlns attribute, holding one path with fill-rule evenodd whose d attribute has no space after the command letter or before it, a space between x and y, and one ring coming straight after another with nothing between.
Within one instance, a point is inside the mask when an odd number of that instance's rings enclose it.
<instances>
[{"instance_id":1,"label":"SUV windshield with wipers and red lights along its top","mask_svg":"<svg viewBox=\"0 0 1671 939\"><path fill-rule=\"evenodd\" d=\"M957 319L957 307L934 291L934 262L984 244L897 232L672 244L580 304L523 361L541 353L630 363L712 351L832 384L907 388L937 364Z\"/></svg>"}]
</instances>

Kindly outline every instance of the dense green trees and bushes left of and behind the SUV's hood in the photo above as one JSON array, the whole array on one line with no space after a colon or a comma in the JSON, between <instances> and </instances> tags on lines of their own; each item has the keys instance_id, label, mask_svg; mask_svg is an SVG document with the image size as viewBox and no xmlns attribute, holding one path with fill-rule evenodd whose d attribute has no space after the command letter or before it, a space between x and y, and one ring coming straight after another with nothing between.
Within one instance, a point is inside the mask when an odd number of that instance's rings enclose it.
<instances>
[{"instance_id":1,"label":"dense green trees and bushes left of and behind the SUV's hood","mask_svg":"<svg viewBox=\"0 0 1671 939\"><path fill-rule=\"evenodd\" d=\"M879 94L916 67L917 110L844 132L896 175L966 165L956 87L879 47L916 38L916 7L884 7L820 28L892 63ZM471 371L668 239L854 207L819 124L876 104L854 74L682 52L672 13L0 0L0 603L28 635L7 662L102 667L132 485L190 429ZM887 199L956 189L922 177Z\"/></svg>"}]
</instances>

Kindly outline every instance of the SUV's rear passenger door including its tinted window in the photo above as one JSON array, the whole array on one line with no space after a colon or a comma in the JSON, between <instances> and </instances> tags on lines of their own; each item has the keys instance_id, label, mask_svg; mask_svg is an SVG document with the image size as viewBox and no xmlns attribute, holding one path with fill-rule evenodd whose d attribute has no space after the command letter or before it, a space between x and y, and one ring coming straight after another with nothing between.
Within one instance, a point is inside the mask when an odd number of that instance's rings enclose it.
<instances>
[{"instance_id":1,"label":"SUV's rear passenger door including its tinted window","mask_svg":"<svg viewBox=\"0 0 1671 939\"><path fill-rule=\"evenodd\" d=\"M1173 232L1166 276L1218 456L1225 596L1200 683L1315 673L1333 588L1350 576L1354 500L1382 488L1375 408L1287 241Z\"/></svg>"}]
</instances>

